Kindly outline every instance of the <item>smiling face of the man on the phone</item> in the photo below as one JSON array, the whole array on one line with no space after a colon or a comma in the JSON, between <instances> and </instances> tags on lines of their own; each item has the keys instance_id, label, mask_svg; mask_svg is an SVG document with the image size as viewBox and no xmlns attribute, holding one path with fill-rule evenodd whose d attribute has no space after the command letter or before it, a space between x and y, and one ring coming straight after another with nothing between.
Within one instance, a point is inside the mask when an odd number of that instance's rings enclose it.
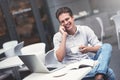
<instances>
[{"instance_id":1,"label":"smiling face of the man on the phone","mask_svg":"<svg viewBox=\"0 0 120 80\"><path fill-rule=\"evenodd\" d=\"M74 18L69 13L62 13L59 17L60 25L62 25L66 31L70 31L74 26Z\"/></svg>"}]
</instances>

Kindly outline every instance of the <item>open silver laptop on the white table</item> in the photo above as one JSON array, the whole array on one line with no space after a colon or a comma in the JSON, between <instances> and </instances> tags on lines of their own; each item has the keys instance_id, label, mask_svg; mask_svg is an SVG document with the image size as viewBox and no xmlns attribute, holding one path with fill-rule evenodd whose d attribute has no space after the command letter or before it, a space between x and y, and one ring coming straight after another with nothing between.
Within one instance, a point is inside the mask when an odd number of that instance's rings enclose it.
<instances>
[{"instance_id":1,"label":"open silver laptop on the white table","mask_svg":"<svg viewBox=\"0 0 120 80\"><path fill-rule=\"evenodd\" d=\"M19 58L29 68L30 71L35 73L50 73L64 67L47 67L36 55L19 55Z\"/></svg>"}]
</instances>

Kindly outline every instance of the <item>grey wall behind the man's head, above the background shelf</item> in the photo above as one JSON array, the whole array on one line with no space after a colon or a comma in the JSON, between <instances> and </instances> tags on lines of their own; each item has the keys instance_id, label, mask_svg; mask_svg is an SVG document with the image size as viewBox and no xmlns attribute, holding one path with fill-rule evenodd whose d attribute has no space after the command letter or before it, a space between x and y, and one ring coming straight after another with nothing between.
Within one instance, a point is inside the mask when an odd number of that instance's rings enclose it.
<instances>
[{"instance_id":1,"label":"grey wall behind the man's head, above the background shelf","mask_svg":"<svg viewBox=\"0 0 120 80\"><path fill-rule=\"evenodd\" d=\"M55 12L59 7L70 7L74 14L78 14L79 11L83 10L91 13L92 10L98 9L100 13L108 13L108 17L120 10L120 0L47 0L47 2L56 32L58 31L59 23L55 17Z\"/></svg>"}]
</instances>

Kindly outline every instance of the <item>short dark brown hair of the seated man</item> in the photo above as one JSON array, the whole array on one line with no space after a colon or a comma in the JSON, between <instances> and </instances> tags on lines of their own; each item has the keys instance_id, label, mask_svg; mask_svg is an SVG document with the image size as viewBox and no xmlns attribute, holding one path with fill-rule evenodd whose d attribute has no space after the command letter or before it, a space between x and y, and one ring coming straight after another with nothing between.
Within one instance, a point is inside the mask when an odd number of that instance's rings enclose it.
<instances>
[{"instance_id":1,"label":"short dark brown hair of the seated man","mask_svg":"<svg viewBox=\"0 0 120 80\"><path fill-rule=\"evenodd\" d=\"M59 8L57 11L56 11L56 18L58 19L59 16L62 14L62 13L69 13L69 15L72 17L73 16L73 13L72 13L72 10L68 7L61 7Z\"/></svg>"}]
</instances>

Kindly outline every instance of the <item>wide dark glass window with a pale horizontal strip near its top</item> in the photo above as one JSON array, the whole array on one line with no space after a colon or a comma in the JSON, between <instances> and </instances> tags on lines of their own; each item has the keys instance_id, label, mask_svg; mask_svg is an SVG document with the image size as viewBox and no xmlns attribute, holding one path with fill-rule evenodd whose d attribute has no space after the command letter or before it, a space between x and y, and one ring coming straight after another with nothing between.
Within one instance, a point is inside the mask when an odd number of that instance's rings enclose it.
<instances>
[{"instance_id":1,"label":"wide dark glass window with a pale horizontal strip near its top","mask_svg":"<svg viewBox=\"0 0 120 80\"><path fill-rule=\"evenodd\" d=\"M10 13L16 23L16 31L25 45L40 42L29 0L10 0Z\"/></svg>"}]
</instances>

